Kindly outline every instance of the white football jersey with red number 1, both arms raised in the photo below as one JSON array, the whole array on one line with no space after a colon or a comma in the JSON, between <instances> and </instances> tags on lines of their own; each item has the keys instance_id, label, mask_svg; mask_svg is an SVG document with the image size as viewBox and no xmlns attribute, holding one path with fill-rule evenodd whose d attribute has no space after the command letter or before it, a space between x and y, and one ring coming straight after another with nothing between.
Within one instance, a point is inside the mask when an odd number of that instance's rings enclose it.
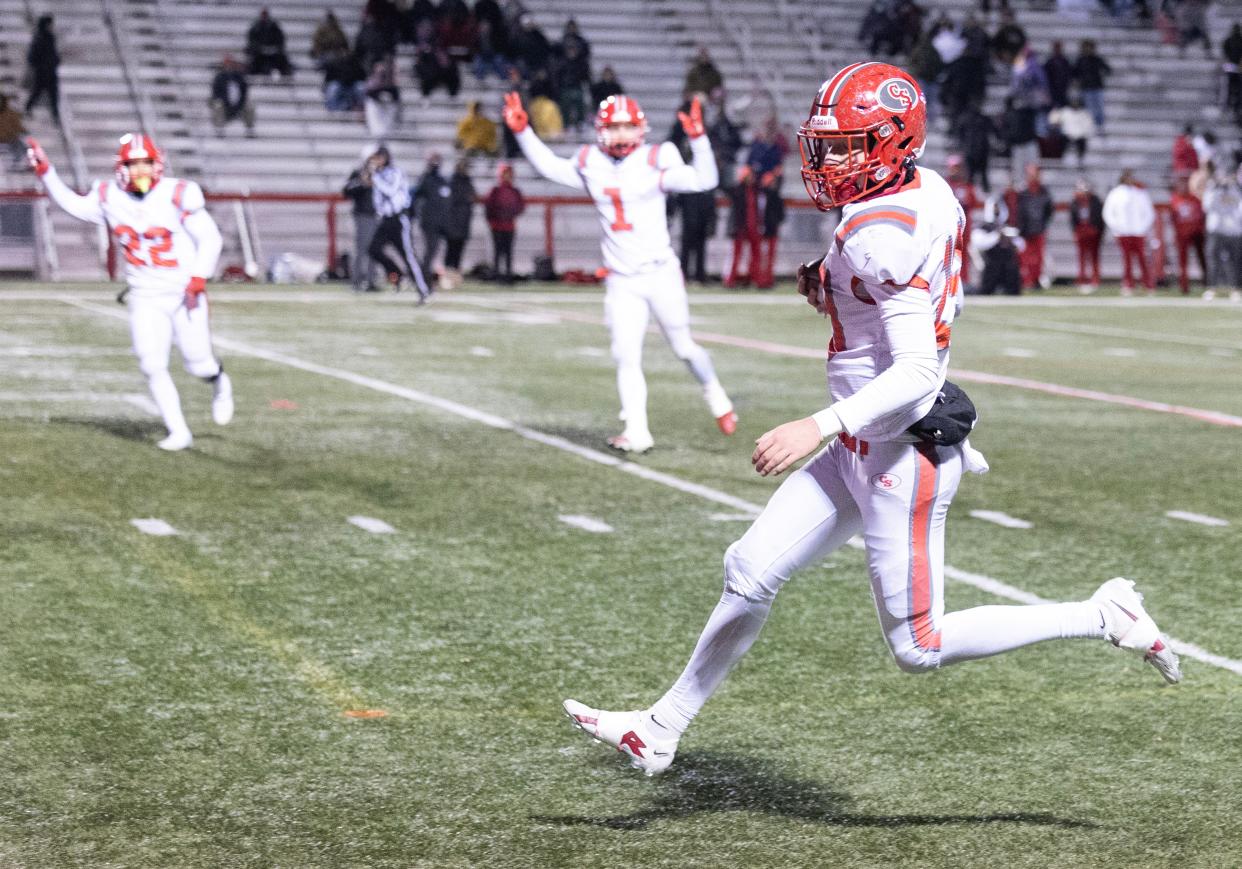
<instances>
[{"instance_id":1,"label":"white football jersey with red number 1, both arms raised","mask_svg":"<svg viewBox=\"0 0 1242 869\"><path fill-rule=\"evenodd\" d=\"M556 156L530 128L518 134L518 144L540 175L584 190L595 201L604 264L615 274L642 274L676 262L666 196L714 190L719 181L705 135L691 139L692 165L669 142L640 145L621 160L596 145L582 145L570 159Z\"/></svg>"}]
</instances>

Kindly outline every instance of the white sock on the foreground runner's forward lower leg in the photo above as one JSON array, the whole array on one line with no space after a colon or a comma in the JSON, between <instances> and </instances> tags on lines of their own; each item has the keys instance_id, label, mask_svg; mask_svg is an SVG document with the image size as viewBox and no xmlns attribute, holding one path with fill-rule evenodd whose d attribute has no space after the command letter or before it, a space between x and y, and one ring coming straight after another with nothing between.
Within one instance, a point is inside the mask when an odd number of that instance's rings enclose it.
<instances>
[{"instance_id":1,"label":"white sock on the foreground runner's forward lower leg","mask_svg":"<svg viewBox=\"0 0 1242 869\"><path fill-rule=\"evenodd\" d=\"M771 600L753 602L724 592L682 675L648 710L657 724L682 734L768 621Z\"/></svg>"}]
</instances>

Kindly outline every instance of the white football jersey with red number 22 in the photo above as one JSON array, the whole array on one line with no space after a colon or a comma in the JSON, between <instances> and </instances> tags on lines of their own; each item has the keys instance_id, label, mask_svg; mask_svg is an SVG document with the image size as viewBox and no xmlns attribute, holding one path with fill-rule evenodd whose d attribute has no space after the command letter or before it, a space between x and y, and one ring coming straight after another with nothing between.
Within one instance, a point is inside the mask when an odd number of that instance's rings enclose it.
<instances>
[{"instance_id":1,"label":"white football jersey with red number 22","mask_svg":"<svg viewBox=\"0 0 1242 869\"><path fill-rule=\"evenodd\" d=\"M180 294L191 277L210 278L221 240L194 181L164 176L145 196L116 181L96 181L84 196L68 189L55 169L43 175L47 194L75 217L108 227L135 297Z\"/></svg>"}]
</instances>

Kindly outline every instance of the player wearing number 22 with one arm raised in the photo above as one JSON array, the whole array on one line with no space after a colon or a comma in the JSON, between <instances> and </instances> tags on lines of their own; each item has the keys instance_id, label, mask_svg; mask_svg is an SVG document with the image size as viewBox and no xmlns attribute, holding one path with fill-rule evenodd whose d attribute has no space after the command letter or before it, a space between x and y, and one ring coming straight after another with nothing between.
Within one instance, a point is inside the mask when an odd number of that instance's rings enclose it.
<instances>
[{"instance_id":1,"label":"player wearing number 22 with one arm raised","mask_svg":"<svg viewBox=\"0 0 1242 869\"><path fill-rule=\"evenodd\" d=\"M39 142L26 144L27 160L52 201L78 220L108 227L120 246L127 284L122 295L129 307L134 355L168 427L160 449L194 443L168 371L174 340L185 370L211 385L212 420L227 425L233 415L232 384L211 349L206 297L222 242L202 190L194 181L165 178L163 153L140 133L122 137L114 179L93 182L86 196L66 186Z\"/></svg>"}]
</instances>

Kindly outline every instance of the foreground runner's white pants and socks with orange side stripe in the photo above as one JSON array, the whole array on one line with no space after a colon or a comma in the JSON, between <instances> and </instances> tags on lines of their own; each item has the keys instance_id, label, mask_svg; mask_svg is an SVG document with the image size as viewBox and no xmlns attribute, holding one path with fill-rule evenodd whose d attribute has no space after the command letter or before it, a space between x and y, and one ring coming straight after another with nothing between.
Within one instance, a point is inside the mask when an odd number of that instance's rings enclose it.
<instances>
[{"instance_id":1,"label":"foreground runner's white pants and socks with orange side stripe","mask_svg":"<svg viewBox=\"0 0 1242 869\"><path fill-rule=\"evenodd\" d=\"M677 683L652 706L684 730L759 636L790 576L862 534L872 597L897 665L922 672L1042 639L1103 637L1090 602L944 612L944 525L963 447L833 441L794 472L724 556L724 595Z\"/></svg>"}]
</instances>

